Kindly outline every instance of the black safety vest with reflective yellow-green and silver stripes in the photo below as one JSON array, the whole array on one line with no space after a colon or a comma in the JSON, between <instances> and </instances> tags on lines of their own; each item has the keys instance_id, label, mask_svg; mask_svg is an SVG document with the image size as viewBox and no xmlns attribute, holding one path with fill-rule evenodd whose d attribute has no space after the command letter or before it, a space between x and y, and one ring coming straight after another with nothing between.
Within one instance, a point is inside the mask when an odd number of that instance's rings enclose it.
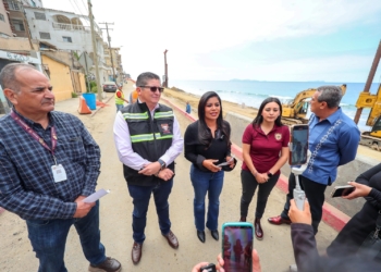
<instances>
[{"instance_id":1,"label":"black safety vest with reflective yellow-green and silver stripes","mask_svg":"<svg viewBox=\"0 0 381 272\"><path fill-rule=\"evenodd\" d=\"M142 158L156 162L172 146L174 116L171 108L159 104L153 119L146 103L128 104L121 112L128 125L132 148ZM167 168L174 172L174 162ZM164 182L155 175L139 174L125 164L123 173L130 185L152 186Z\"/></svg>"}]
</instances>

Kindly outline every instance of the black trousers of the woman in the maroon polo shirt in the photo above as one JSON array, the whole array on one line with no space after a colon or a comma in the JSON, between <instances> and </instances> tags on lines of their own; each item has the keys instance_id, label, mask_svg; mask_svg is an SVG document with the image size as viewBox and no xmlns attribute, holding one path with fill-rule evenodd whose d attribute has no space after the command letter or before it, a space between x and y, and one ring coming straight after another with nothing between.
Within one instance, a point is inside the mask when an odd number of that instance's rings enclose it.
<instances>
[{"instance_id":1,"label":"black trousers of the woman in the maroon polo shirt","mask_svg":"<svg viewBox=\"0 0 381 272\"><path fill-rule=\"evenodd\" d=\"M272 188L278 182L279 175L273 175L269 178L267 183L258 183L254 175L246 171L241 171L241 182L242 182L242 197L241 197L241 217L247 217L248 206L251 202L254 193L259 185L258 197L257 197L257 209L256 219L261 219L267 205L267 199L270 196Z\"/></svg>"}]
</instances>

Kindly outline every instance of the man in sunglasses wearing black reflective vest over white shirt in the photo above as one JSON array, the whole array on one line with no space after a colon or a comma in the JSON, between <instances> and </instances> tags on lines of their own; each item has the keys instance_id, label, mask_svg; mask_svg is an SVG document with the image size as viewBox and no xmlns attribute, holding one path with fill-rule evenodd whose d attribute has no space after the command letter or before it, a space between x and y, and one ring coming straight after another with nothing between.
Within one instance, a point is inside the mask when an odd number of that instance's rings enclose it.
<instances>
[{"instance_id":1,"label":"man in sunglasses wearing black reflective vest over white shirt","mask_svg":"<svg viewBox=\"0 0 381 272\"><path fill-rule=\"evenodd\" d=\"M171 247L179 240L171 231L168 198L173 186L174 159L183 151L184 140L173 110L160 104L163 88L160 77L143 73L136 81L138 101L116 113L114 140L123 173L133 198L132 260L137 264L146 238L144 230L151 194L161 234Z\"/></svg>"}]
</instances>

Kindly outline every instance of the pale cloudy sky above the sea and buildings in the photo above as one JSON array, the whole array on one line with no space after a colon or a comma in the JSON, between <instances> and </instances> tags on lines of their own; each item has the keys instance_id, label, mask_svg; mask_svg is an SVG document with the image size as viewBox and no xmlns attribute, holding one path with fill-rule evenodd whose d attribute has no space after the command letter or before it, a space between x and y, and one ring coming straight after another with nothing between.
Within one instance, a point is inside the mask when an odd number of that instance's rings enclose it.
<instances>
[{"instance_id":1,"label":"pale cloudy sky above the sea and buildings","mask_svg":"<svg viewBox=\"0 0 381 272\"><path fill-rule=\"evenodd\" d=\"M87 0L42 0L88 14ZM91 0L124 72L169 79L365 83L381 40L374 0ZM103 27L102 25L100 25ZM103 39L106 41L106 30ZM380 63L381 65L381 63ZM373 83L381 82L381 67Z\"/></svg>"}]
</instances>

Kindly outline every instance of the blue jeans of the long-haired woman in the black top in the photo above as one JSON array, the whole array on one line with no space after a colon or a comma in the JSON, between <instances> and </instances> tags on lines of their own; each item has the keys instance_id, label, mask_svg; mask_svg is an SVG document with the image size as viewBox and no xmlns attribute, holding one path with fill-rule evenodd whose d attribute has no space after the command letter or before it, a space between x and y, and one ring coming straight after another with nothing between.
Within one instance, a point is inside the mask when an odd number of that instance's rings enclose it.
<instances>
[{"instance_id":1,"label":"blue jeans of the long-haired woman in the black top","mask_svg":"<svg viewBox=\"0 0 381 272\"><path fill-rule=\"evenodd\" d=\"M206 226L210 231L216 231L219 226L219 198L222 190L223 176L223 171L208 173L198 170L193 164L190 166L190 181L195 190L194 214L197 231L202 232L205 230L205 197L207 193L209 205Z\"/></svg>"}]
</instances>

